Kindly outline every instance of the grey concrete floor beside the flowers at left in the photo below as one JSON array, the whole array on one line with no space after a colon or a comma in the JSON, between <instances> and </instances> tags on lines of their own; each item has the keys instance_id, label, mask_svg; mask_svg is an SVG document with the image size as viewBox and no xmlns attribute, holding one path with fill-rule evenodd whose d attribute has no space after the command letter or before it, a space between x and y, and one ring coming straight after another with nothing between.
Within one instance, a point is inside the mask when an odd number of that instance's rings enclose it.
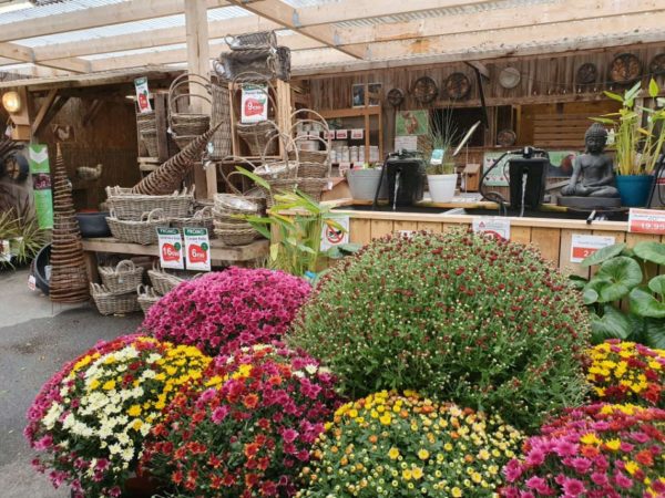
<instances>
[{"instance_id":1,"label":"grey concrete floor beside the flowers at left","mask_svg":"<svg viewBox=\"0 0 665 498\"><path fill-rule=\"evenodd\" d=\"M94 305L55 305L28 289L28 270L0 272L0 497L64 498L30 465L25 412L60 366L99 340L136 330L143 315L102 317Z\"/></svg>"}]
</instances>

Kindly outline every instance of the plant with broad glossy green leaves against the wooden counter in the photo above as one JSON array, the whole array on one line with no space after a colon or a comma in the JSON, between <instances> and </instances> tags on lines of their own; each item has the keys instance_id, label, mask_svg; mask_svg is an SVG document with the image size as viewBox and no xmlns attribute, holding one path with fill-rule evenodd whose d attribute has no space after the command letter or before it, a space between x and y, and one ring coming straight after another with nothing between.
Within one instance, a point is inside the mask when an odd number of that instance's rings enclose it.
<instances>
[{"instance_id":1,"label":"plant with broad glossy green leaves against the wooden counter","mask_svg":"<svg viewBox=\"0 0 665 498\"><path fill-rule=\"evenodd\" d=\"M665 276L647 263L665 264L665 243L605 247L582 261L598 266L591 279L571 277L591 311L594 344L621 339L665 349Z\"/></svg>"}]
</instances>

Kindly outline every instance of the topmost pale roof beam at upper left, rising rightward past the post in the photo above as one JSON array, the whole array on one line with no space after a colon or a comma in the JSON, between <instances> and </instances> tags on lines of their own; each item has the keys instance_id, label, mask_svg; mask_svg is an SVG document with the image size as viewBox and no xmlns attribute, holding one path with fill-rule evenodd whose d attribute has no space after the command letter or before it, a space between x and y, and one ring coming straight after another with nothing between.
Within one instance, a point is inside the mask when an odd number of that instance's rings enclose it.
<instances>
[{"instance_id":1,"label":"topmost pale roof beam at upper left, rising rightward past the post","mask_svg":"<svg viewBox=\"0 0 665 498\"><path fill-rule=\"evenodd\" d=\"M190 0L186 0L187 2ZM208 9L225 7L225 0L206 0ZM29 19L6 24L0 41L21 40L25 37L43 37L68 31L85 30L123 22L141 21L183 13L183 0L130 0L122 4L76 10L55 15Z\"/></svg>"}]
</instances>

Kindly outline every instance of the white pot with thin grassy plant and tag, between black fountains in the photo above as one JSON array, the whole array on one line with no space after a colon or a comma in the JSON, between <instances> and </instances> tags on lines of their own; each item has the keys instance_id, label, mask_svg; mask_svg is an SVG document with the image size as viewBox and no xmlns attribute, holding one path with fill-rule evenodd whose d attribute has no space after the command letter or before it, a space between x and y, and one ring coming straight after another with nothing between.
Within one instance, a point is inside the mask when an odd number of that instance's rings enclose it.
<instances>
[{"instance_id":1,"label":"white pot with thin grassy plant and tag, between black fountains","mask_svg":"<svg viewBox=\"0 0 665 498\"><path fill-rule=\"evenodd\" d=\"M430 197L434 203L448 203L454 197L458 175L452 160L452 143L457 136L457 126L452 122L452 112L447 108L441 120L432 117L428 142L431 152L427 167L427 183Z\"/></svg>"}]
</instances>

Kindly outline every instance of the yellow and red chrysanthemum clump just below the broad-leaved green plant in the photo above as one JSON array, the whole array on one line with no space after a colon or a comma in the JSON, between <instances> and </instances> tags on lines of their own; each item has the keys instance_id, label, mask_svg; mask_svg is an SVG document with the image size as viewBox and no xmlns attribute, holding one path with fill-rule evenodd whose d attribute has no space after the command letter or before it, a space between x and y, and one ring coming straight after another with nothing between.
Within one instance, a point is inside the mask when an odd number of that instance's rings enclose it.
<instances>
[{"instance_id":1,"label":"yellow and red chrysanthemum clump just below the broad-leaved green plant","mask_svg":"<svg viewBox=\"0 0 665 498\"><path fill-rule=\"evenodd\" d=\"M665 351L610 340L594 346L589 361L586 378L600 401L665 408Z\"/></svg>"}]
</instances>

